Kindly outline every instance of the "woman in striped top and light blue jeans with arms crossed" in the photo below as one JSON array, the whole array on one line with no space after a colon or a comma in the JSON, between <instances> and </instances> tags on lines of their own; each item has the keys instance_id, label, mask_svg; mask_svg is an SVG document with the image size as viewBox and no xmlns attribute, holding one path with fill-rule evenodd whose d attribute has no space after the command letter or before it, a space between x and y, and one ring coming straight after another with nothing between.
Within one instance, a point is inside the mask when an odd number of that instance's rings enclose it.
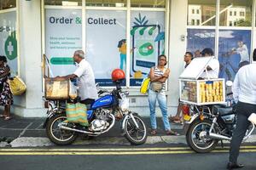
<instances>
[{"instance_id":1,"label":"woman in striped top and light blue jeans with arms crossed","mask_svg":"<svg viewBox=\"0 0 256 170\"><path fill-rule=\"evenodd\" d=\"M171 130L171 126L167 115L167 102L166 102L166 80L169 77L170 69L166 69L166 55L160 55L158 57L158 65L152 67L149 72L150 85L148 89L148 103L150 110L150 122L151 122L151 134L157 133L157 124L155 117L155 103L156 100L159 103L160 110L162 112L162 120L164 123L166 134L178 135L178 133Z\"/></svg>"}]
</instances>

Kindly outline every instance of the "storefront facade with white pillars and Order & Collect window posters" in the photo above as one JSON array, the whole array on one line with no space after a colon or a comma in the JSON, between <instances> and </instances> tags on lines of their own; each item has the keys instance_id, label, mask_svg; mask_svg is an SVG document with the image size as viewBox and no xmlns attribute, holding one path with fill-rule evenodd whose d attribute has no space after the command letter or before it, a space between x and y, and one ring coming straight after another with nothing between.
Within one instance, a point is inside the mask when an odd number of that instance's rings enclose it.
<instances>
[{"instance_id":1,"label":"storefront facade with white pillars and Order & Collect window posters","mask_svg":"<svg viewBox=\"0 0 256 170\"><path fill-rule=\"evenodd\" d=\"M27 86L12 106L20 116L46 116L44 54L50 76L56 77L75 70L73 52L83 49L96 82L106 88L113 88L111 71L124 70L131 109L142 116L149 116L148 98L139 87L160 54L166 54L171 69L166 91L170 114L176 112L185 51L197 55L212 48L220 62L219 77L226 80L234 79L241 62L253 62L254 0L0 2L0 54L9 59L12 75Z\"/></svg>"}]
</instances>

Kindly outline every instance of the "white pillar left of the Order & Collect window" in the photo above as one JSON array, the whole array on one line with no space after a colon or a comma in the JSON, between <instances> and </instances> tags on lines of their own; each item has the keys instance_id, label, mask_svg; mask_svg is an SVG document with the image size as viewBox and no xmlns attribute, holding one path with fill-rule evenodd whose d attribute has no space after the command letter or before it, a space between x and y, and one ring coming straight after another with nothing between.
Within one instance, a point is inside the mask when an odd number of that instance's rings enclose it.
<instances>
[{"instance_id":1,"label":"white pillar left of the Order & Collect window","mask_svg":"<svg viewBox=\"0 0 256 170\"><path fill-rule=\"evenodd\" d=\"M20 116L44 116L41 73L41 1L17 1L20 10L20 76L26 82L23 96L15 97L12 112Z\"/></svg>"}]
</instances>

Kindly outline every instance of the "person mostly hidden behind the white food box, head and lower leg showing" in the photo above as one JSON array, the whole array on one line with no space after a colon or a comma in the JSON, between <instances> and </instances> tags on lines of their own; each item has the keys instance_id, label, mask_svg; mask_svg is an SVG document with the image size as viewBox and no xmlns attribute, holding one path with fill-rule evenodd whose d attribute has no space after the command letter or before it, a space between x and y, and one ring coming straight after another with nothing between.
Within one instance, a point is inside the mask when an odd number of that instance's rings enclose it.
<instances>
[{"instance_id":1,"label":"person mostly hidden behind the white food box, head and lower leg showing","mask_svg":"<svg viewBox=\"0 0 256 170\"><path fill-rule=\"evenodd\" d=\"M193 59L193 54L191 52L186 52L184 54L184 61L185 61L185 69L190 64L190 62ZM180 112L183 109L183 104L180 102L180 99L178 99L178 106L177 106L177 113L175 116L170 116L169 119L172 122L182 122L182 116L180 116Z\"/></svg>"}]
</instances>

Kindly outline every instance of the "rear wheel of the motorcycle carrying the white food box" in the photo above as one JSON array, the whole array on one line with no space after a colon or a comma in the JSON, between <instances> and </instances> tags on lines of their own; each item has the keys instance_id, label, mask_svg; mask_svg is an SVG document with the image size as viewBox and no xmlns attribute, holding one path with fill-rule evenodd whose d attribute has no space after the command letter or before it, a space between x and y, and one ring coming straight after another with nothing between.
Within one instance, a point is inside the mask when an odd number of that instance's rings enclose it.
<instances>
[{"instance_id":1,"label":"rear wheel of the motorcycle carrying the white food box","mask_svg":"<svg viewBox=\"0 0 256 170\"><path fill-rule=\"evenodd\" d=\"M207 153L216 147L218 140L209 137L211 125L212 122L208 119L195 120L190 124L186 140L192 150L197 153ZM213 129L213 133L216 133L216 129Z\"/></svg>"}]
</instances>

